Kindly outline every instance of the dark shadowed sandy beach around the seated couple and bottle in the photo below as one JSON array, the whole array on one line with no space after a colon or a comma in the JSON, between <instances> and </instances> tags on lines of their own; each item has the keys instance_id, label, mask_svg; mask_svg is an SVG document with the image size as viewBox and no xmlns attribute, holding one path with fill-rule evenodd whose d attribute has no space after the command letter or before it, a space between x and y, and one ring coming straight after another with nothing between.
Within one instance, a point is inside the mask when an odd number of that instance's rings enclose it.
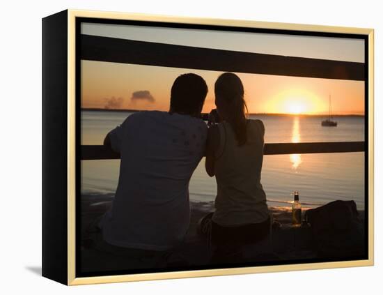
<instances>
[{"instance_id":1,"label":"dark shadowed sandy beach around the seated couple and bottle","mask_svg":"<svg viewBox=\"0 0 383 295\"><path fill-rule=\"evenodd\" d=\"M338 242L336 252L323 256L318 251L318 239L315 239L311 227L293 227L291 225L291 209L288 207L269 207L274 219L274 226L267 239L256 245L247 245L242 249L240 257L225 264L214 265L211 262L211 250L207 241L198 234L197 222L205 214L214 211L213 202L191 202L191 223L185 243L175 249L166 261L153 265L148 257L147 261L138 259L132 252L123 248L104 247L105 243L100 238L93 224L97 218L107 211L113 195L82 195L81 196L81 273L97 273L97 271L130 270L131 273L153 271L171 271L181 269L221 268L235 266L256 266L265 264L286 264L288 262L302 263L322 261L329 258L339 260L354 259L364 254L364 211L359 211L357 232L347 236L347 247L342 249ZM302 215L307 208L302 209ZM351 240L350 240L351 236ZM350 248L350 247L349 247ZM322 260L321 260L322 259Z\"/></svg>"}]
</instances>

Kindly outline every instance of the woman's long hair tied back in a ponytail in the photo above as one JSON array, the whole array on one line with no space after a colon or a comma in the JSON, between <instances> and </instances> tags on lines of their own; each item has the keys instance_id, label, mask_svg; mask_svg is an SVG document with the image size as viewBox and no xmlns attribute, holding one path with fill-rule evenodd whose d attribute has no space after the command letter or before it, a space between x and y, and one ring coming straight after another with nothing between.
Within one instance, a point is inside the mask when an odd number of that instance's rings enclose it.
<instances>
[{"instance_id":1,"label":"woman's long hair tied back in a ponytail","mask_svg":"<svg viewBox=\"0 0 383 295\"><path fill-rule=\"evenodd\" d=\"M233 73L223 73L214 84L216 98L224 100L233 110L228 122L233 127L238 144L242 146L247 142L247 105L244 101L244 88L240 77Z\"/></svg>"}]
</instances>

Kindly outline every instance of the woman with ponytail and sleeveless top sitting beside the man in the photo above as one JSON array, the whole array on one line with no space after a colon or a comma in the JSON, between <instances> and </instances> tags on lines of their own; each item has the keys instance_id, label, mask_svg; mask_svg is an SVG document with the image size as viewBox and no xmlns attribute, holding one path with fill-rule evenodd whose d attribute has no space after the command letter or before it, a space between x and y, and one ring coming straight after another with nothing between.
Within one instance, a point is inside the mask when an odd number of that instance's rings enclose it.
<instances>
[{"instance_id":1,"label":"woman with ponytail and sleeveless top sitting beside the man","mask_svg":"<svg viewBox=\"0 0 383 295\"><path fill-rule=\"evenodd\" d=\"M200 225L204 234L211 234L219 260L237 255L241 245L264 239L270 220L260 183L263 122L247 119L244 87L237 75L220 75L214 93L218 116L210 113L205 168L216 177L217 197L214 213Z\"/></svg>"}]
</instances>

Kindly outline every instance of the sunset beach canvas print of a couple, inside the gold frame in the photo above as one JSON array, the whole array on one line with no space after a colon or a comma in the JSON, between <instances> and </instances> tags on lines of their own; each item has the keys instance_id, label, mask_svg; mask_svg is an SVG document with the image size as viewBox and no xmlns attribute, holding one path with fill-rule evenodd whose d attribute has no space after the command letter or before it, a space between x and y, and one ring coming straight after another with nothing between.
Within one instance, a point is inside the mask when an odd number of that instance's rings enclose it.
<instances>
[{"instance_id":1,"label":"sunset beach canvas print of a couple, inside the gold frame","mask_svg":"<svg viewBox=\"0 0 383 295\"><path fill-rule=\"evenodd\" d=\"M78 28L77 276L368 258L363 37Z\"/></svg>"}]
</instances>

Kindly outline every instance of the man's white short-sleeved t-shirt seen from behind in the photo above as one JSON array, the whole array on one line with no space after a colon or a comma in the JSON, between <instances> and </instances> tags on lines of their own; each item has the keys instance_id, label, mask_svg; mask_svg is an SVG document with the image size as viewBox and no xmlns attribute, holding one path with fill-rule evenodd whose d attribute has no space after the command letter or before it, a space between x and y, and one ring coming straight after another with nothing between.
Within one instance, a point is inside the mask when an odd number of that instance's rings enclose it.
<instances>
[{"instance_id":1,"label":"man's white short-sleeved t-shirt seen from behind","mask_svg":"<svg viewBox=\"0 0 383 295\"><path fill-rule=\"evenodd\" d=\"M207 131L192 116L145 111L109 133L121 162L113 206L100 222L105 241L146 250L182 242L190 222L189 180Z\"/></svg>"}]
</instances>

